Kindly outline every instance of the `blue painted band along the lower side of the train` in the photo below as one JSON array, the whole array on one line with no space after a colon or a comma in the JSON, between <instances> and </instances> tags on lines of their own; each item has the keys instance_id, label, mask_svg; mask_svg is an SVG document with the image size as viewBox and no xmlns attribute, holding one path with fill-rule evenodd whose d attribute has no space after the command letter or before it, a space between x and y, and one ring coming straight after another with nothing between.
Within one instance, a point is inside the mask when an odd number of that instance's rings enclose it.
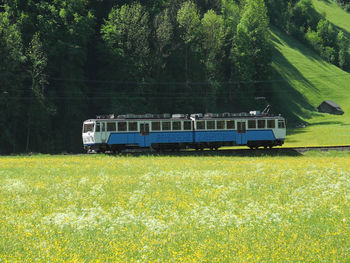
<instances>
[{"instance_id":1,"label":"blue painted band along the lower side of the train","mask_svg":"<svg viewBox=\"0 0 350 263\"><path fill-rule=\"evenodd\" d=\"M185 132L151 132L142 136L134 133L111 133L107 144L133 144L139 147L149 147L152 143L194 143L194 142L234 142L247 144L248 141L273 141L276 137L272 130L248 130L246 133L237 131L185 131Z\"/></svg>"}]
</instances>

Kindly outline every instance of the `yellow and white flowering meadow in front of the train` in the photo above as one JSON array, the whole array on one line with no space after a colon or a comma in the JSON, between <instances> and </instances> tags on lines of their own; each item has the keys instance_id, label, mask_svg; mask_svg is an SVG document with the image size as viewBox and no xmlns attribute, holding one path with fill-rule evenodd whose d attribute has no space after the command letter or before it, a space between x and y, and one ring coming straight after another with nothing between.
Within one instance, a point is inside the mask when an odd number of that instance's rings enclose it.
<instances>
[{"instance_id":1,"label":"yellow and white flowering meadow in front of the train","mask_svg":"<svg viewBox=\"0 0 350 263\"><path fill-rule=\"evenodd\" d=\"M349 262L350 155L0 157L0 262Z\"/></svg>"}]
</instances>

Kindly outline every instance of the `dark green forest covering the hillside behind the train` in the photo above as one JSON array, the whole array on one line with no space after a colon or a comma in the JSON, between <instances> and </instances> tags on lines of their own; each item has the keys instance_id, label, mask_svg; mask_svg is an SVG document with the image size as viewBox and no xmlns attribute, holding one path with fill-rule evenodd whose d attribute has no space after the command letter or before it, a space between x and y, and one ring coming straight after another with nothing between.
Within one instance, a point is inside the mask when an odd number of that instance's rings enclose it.
<instances>
[{"instance_id":1,"label":"dark green forest covering the hillside behind the train","mask_svg":"<svg viewBox=\"0 0 350 263\"><path fill-rule=\"evenodd\" d=\"M273 100L271 27L350 70L347 34L311 0L1 3L0 154L80 152L99 114L255 110Z\"/></svg>"}]
</instances>

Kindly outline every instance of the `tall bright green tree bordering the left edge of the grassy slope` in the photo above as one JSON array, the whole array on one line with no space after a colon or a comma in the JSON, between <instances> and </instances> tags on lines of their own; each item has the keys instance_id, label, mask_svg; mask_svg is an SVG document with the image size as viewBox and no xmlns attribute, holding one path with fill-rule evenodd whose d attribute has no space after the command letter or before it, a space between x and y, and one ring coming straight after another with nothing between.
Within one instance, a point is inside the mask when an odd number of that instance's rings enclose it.
<instances>
[{"instance_id":1,"label":"tall bright green tree bordering the left edge of the grassy slope","mask_svg":"<svg viewBox=\"0 0 350 263\"><path fill-rule=\"evenodd\" d=\"M269 20L263 0L247 0L234 41L231 58L239 80L237 92L248 104L262 86L258 82L269 75L271 62Z\"/></svg>"}]
</instances>

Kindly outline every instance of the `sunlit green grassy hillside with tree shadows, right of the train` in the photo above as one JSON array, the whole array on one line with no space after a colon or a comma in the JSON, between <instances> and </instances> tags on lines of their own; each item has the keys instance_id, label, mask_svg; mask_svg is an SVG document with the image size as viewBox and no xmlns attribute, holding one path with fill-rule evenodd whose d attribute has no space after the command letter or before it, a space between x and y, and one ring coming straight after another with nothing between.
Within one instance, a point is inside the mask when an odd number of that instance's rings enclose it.
<instances>
[{"instance_id":1,"label":"sunlit green grassy hillside with tree shadows, right of the train","mask_svg":"<svg viewBox=\"0 0 350 263\"><path fill-rule=\"evenodd\" d=\"M314 1L319 12L336 26L350 32L350 14L335 4ZM348 26L348 28L346 27ZM350 144L350 74L325 62L302 43L272 29L275 54L273 68L274 101L283 112L293 112L310 125L290 130L287 146ZM323 100L334 100L345 111L343 116L317 113Z\"/></svg>"}]
</instances>

